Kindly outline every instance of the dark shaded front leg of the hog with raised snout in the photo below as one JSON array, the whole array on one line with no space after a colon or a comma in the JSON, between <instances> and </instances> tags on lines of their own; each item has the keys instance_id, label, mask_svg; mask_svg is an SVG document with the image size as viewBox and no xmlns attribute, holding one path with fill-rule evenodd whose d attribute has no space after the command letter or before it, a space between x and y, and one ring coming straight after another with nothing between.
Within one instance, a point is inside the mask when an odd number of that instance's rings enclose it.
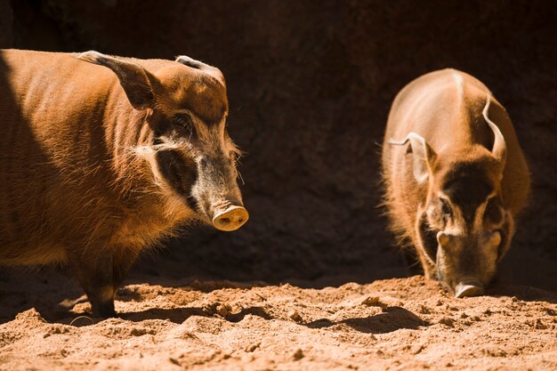
<instances>
[{"instance_id":1,"label":"dark shaded front leg of the hog with raised snout","mask_svg":"<svg viewBox=\"0 0 557 371\"><path fill-rule=\"evenodd\" d=\"M102 254L73 254L69 261L91 302L93 317L116 317L112 254L106 251Z\"/></svg>"}]
</instances>

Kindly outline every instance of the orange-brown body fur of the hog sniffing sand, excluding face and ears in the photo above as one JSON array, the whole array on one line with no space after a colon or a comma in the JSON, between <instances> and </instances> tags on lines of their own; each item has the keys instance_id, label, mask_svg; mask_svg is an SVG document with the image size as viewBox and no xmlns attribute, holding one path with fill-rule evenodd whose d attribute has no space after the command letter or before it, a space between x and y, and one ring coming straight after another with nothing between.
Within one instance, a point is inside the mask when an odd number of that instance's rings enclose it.
<instances>
[{"instance_id":1,"label":"orange-brown body fur of the hog sniffing sand, excluding face and ears","mask_svg":"<svg viewBox=\"0 0 557 371\"><path fill-rule=\"evenodd\" d=\"M491 153L494 134L482 116L488 99L491 100L488 117L498 126L506 142L502 180L499 161ZM404 140L410 132L423 137L436 154L430 164L430 175L423 184L416 181L413 173L414 157L410 146L389 143L392 139ZM525 206L529 193L528 167L513 124L488 88L474 77L453 69L419 77L402 89L392 104L383 142L383 181L392 230L401 240L406 239L416 246L428 277L434 278L435 269L439 267L431 264L421 246L416 230L418 217L432 205L448 177L464 176L455 174L455 169L462 166L475 168L474 173L464 175L488 184L510 213L508 240L505 240L506 246L501 247L500 259L513 236L512 216ZM430 222L429 229L437 233L441 227ZM491 277L493 273L485 274Z\"/></svg>"}]
</instances>

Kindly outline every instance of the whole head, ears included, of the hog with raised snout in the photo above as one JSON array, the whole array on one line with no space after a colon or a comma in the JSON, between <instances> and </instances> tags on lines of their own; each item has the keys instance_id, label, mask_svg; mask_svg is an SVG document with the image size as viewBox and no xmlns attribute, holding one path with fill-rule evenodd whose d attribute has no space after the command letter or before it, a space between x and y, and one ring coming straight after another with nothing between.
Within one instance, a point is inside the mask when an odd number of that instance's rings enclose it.
<instances>
[{"instance_id":1,"label":"whole head, ears included, of the hog with raised snout","mask_svg":"<svg viewBox=\"0 0 557 371\"><path fill-rule=\"evenodd\" d=\"M79 58L112 69L140 111L139 139L131 146L149 162L168 213L185 207L218 230L238 230L248 214L237 183L240 152L226 128L221 71L188 57L153 73L98 52Z\"/></svg>"}]
</instances>

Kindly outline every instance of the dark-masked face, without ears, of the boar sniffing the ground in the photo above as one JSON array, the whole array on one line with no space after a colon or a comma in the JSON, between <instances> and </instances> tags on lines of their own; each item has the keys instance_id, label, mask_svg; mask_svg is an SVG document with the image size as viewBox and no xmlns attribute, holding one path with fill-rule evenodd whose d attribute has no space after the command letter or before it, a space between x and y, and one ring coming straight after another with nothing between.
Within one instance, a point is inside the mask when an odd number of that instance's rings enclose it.
<instances>
[{"instance_id":1,"label":"dark-masked face, without ears, of the boar sniffing the ground","mask_svg":"<svg viewBox=\"0 0 557 371\"><path fill-rule=\"evenodd\" d=\"M510 240L510 214L486 171L490 162L452 164L438 174L418 218L425 253L457 297L483 293Z\"/></svg>"}]
</instances>

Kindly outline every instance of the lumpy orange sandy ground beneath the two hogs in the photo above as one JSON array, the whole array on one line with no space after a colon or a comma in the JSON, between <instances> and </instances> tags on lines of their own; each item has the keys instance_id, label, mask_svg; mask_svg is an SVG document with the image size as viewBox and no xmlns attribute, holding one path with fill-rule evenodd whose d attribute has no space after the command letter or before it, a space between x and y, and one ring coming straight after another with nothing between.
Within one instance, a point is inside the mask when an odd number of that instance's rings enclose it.
<instances>
[{"instance_id":1,"label":"lumpy orange sandy ground beneath the two hogs","mask_svg":"<svg viewBox=\"0 0 557 371\"><path fill-rule=\"evenodd\" d=\"M419 276L322 289L161 280L126 285L120 318L99 320L80 317L73 279L4 274L0 369L557 369L557 294L488 294L454 299Z\"/></svg>"}]
</instances>

